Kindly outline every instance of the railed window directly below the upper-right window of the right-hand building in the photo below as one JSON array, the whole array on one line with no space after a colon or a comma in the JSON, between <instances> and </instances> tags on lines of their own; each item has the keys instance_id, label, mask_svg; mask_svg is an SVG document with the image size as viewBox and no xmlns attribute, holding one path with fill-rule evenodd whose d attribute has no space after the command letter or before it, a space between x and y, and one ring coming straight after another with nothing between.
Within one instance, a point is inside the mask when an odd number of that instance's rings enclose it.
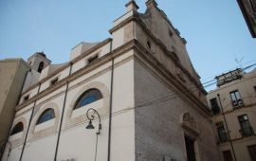
<instances>
[{"instance_id":1,"label":"railed window directly below the upper-right window of the right-hand building","mask_svg":"<svg viewBox=\"0 0 256 161\"><path fill-rule=\"evenodd\" d=\"M238 116L238 120L241 127L240 132L243 136L250 136L254 134L253 129L249 124L247 115Z\"/></svg>"}]
</instances>

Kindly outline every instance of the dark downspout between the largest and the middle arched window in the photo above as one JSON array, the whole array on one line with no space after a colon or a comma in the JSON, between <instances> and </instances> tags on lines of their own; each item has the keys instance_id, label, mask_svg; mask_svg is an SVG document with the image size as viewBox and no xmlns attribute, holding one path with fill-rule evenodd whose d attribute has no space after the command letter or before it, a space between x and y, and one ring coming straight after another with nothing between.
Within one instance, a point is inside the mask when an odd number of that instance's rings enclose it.
<instances>
[{"instance_id":1,"label":"dark downspout between the largest and the middle arched window","mask_svg":"<svg viewBox=\"0 0 256 161\"><path fill-rule=\"evenodd\" d=\"M69 74L68 74L68 76L70 76L70 74L71 74L71 72L72 72L72 65L73 65L73 63L70 62L70 68L69 68ZM55 149L54 161L57 161L57 155L58 155L58 151L59 151L60 138L61 138L61 133L62 133L63 121L64 121L64 108L65 108L65 101L66 101L68 86L69 86L69 82L67 81L67 82L66 82L65 92L64 92L63 112L62 112L61 123L60 123L60 128L59 128L58 137L57 137L57 144L56 144L56 149Z\"/></svg>"}]
</instances>

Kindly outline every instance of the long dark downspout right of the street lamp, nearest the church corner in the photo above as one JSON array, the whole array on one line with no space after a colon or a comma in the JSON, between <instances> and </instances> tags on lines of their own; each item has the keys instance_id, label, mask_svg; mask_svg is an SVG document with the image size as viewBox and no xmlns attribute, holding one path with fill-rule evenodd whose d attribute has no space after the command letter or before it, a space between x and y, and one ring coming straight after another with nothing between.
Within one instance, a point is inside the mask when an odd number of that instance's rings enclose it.
<instances>
[{"instance_id":1,"label":"long dark downspout right of the street lamp, nearest the church corner","mask_svg":"<svg viewBox=\"0 0 256 161\"><path fill-rule=\"evenodd\" d=\"M113 98L113 78L114 78L114 54L113 54L113 51L112 51L112 45L113 45L113 40L111 40L111 42L110 42L110 52L111 52L111 55L112 55L112 64L111 64L110 101L109 101L107 161L110 161L110 153L111 153L112 98Z\"/></svg>"}]
</instances>

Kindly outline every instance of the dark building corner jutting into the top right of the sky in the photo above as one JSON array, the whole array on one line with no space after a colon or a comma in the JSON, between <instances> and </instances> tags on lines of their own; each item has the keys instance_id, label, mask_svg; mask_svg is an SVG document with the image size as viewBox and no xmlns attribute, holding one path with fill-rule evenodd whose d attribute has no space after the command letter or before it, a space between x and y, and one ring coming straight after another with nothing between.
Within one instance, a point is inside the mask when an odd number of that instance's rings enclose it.
<instances>
[{"instance_id":1,"label":"dark building corner jutting into the top right of the sky","mask_svg":"<svg viewBox=\"0 0 256 161\"><path fill-rule=\"evenodd\" d=\"M237 0L237 2L247 22L251 36L256 38L256 1Z\"/></svg>"}]
</instances>

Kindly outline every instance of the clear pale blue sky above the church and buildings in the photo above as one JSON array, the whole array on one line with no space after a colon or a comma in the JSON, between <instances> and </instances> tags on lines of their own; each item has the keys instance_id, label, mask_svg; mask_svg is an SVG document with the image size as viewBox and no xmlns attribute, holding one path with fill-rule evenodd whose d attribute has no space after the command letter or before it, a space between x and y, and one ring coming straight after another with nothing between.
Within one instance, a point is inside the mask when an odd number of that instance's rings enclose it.
<instances>
[{"instance_id":1,"label":"clear pale blue sky above the church and buildings","mask_svg":"<svg viewBox=\"0 0 256 161\"><path fill-rule=\"evenodd\" d=\"M81 42L111 37L113 21L128 0L0 0L0 60L44 51L65 63ZM192 64L206 82L236 67L256 63L253 39L236 0L156 0L187 40ZM145 11L145 0L137 0Z\"/></svg>"}]
</instances>

